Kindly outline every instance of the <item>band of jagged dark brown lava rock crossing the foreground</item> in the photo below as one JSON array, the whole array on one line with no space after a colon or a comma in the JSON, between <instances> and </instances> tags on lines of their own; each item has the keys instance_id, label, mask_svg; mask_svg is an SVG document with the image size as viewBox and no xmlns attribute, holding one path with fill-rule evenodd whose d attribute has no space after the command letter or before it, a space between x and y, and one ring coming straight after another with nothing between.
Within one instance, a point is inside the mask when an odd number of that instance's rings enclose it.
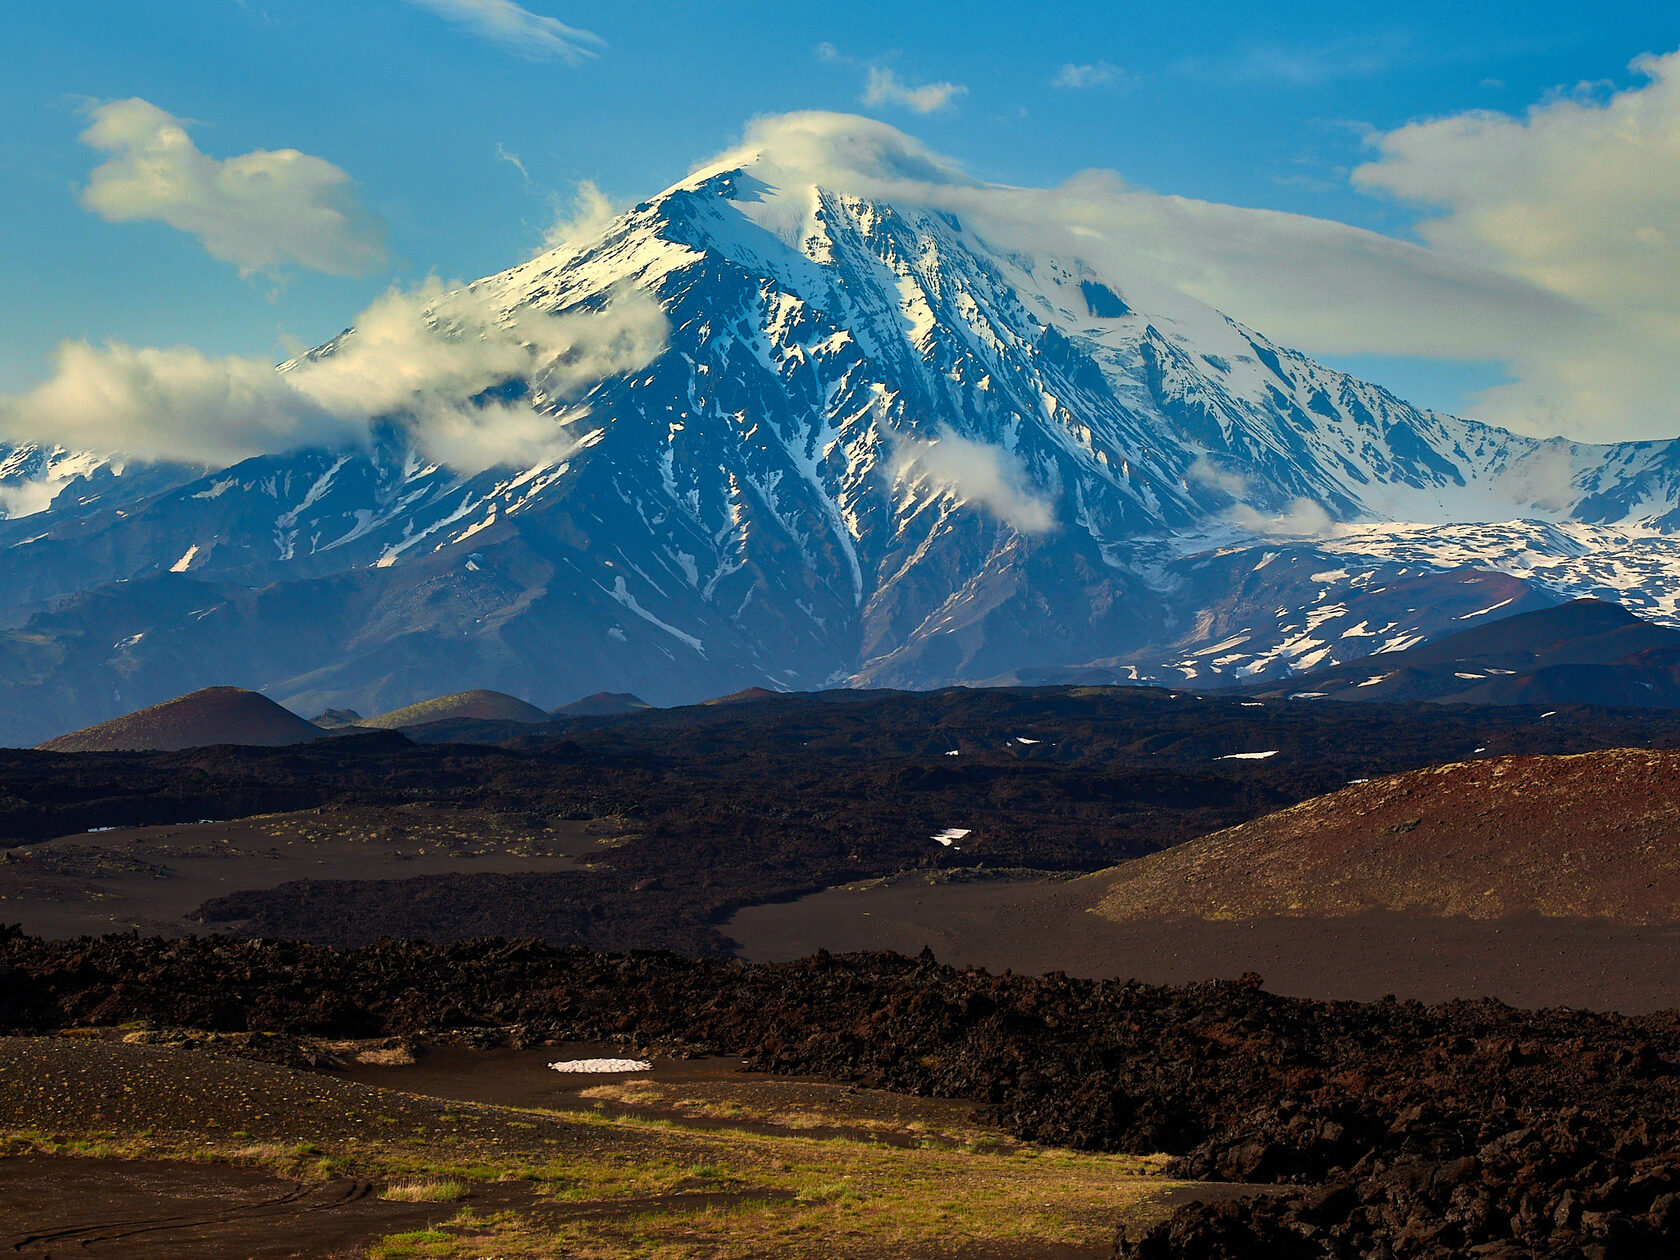
<instances>
[{"instance_id":1,"label":"band of jagged dark brown lava rock crossing the foreground","mask_svg":"<svg viewBox=\"0 0 1680 1260\"><path fill-rule=\"evenodd\" d=\"M1126 1260L1667 1257L1680 1245L1680 1020L1499 1003L1314 1003L956 971L931 956L751 966L536 942L334 951L225 937L0 949L0 1026L286 1038L601 1040L739 1053L990 1104L1020 1137L1166 1151L1282 1193L1189 1205ZM264 1038L255 1038L260 1045Z\"/></svg>"}]
</instances>

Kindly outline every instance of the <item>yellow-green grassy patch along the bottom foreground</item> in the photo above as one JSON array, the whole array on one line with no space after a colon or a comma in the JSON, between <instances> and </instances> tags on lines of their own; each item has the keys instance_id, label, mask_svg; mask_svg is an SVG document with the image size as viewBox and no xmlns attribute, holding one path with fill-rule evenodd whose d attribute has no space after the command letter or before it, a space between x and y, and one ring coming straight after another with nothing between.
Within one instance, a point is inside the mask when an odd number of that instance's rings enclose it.
<instances>
[{"instance_id":1,"label":"yellow-green grassy patch along the bottom foreground","mask_svg":"<svg viewBox=\"0 0 1680 1260\"><path fill-rule=\"evenodd\" d=\"M874 1105L874 1104L872 1104ZM1122 1218L1142 1221L1168 1183L1159 1161L1000 1142L890 1146L850 1134L654 1124L635 1117L450 1104L460 1136L415 1142L395 1131L287 1141L223 1134L139 1137L8 1134L10 1149L225 1159L299 1179L329 1174L386 1186L381 1198L502 1208L459 1211L391 1233L375 1260L732 1260L774 1253L944 1255L973 1247L1104 1247ZM232 1126L230 1126L232 1129ZM306 1141L299 1141L306 1139ZM509 1206L511 1205L511 1206Z\"/></svg>"}]
</instances>

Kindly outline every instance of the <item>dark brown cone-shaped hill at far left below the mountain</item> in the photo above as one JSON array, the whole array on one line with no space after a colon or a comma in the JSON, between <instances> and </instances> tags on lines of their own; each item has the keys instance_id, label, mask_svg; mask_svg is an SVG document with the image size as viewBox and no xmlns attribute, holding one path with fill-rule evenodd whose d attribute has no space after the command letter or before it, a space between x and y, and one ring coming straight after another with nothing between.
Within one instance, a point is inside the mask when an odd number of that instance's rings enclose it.
<instances>
[{"instance_id":1,"label":"dark brown cone-shaped hill at far left below the mountain","mask_svg":"<svg viewBox=\"0 0 1680 1260\"><path fill-rule=\"evenodd\" d=\"M49 753L170 753L210 744L277 748L326 734L267 696L242 687L205 687L124 717L49 739Z\"/></svg>"}]
</instances>

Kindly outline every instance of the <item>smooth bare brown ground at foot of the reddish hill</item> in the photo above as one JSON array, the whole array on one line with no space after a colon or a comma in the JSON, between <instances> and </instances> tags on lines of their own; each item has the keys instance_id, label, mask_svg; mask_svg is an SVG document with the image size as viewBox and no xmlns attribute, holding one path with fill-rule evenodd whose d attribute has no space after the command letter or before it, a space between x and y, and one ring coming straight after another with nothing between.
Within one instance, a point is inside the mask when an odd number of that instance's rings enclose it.
<instances>
[{"instance_id":1,"label":"smooth bare brown ground at foot of the reddish hill","mask_svg":"<svg viewBox=\"0 0 1680 1260\"><path fill-rule=\"evenodd\" d=\"M1537 914L1504 919L1368 911L1341 917L1112 921L1112 882L944 880L912 874L738 911L722 931L754 963L816 949L927 946L942 963L1149 984L1265 976L1299 998L1384 995L1426 1003L1494 996L1512 1006L1630 1015L1680 1006L1680 926Z\"/></svg>"}]
</instances>

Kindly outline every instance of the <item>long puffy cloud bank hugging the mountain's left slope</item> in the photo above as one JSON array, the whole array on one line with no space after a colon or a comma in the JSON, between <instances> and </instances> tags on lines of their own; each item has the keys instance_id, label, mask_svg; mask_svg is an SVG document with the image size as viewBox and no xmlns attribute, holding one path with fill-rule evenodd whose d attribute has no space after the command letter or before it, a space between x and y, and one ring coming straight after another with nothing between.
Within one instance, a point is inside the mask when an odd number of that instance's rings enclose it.
<instances>
[{"instance_id":1,"label":"long puffy cloud bank hugging the mountain's left slope","mask_svg":"<svg viewBox=\"0 0 1680 1260\"><path fill-rule=\"evenodd\" d=\"M240 356L119 343L60 346L50 380L0 398L0 428L141 459L227 465L257 454L368 442L378 423L464 472L564 459L554 415L600 381L650 363L664 311L623 291L596 311L502 311L428 281L391 291L328 349L276 371ZM529 385L524 396L502 386ZM571 415L568 418L578 418Z\"/></svg>"}]
</instances>

